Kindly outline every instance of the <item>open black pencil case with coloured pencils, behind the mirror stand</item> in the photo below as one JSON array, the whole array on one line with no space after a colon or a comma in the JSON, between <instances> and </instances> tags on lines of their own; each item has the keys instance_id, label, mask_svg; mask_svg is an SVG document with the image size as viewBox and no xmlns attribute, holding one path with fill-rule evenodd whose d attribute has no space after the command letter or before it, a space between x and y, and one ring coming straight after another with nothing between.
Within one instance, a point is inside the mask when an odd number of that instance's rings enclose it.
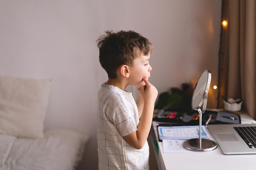
<instances>
[{"instance_id":1,"label":"open black pencil case with coloured pencils, behind the mirror stand","mask_svg":"<svg viewBox=\"0 0 256 170\"><path fill-rule=\"evenodd\" d=\"M153 121L170 123L172 126L198 125L199 113L196 110L161 109ZM206 110L202 115L202 125L207 124L240 124L240 115L225 111Z\"/></svg>"}]
</instances>

